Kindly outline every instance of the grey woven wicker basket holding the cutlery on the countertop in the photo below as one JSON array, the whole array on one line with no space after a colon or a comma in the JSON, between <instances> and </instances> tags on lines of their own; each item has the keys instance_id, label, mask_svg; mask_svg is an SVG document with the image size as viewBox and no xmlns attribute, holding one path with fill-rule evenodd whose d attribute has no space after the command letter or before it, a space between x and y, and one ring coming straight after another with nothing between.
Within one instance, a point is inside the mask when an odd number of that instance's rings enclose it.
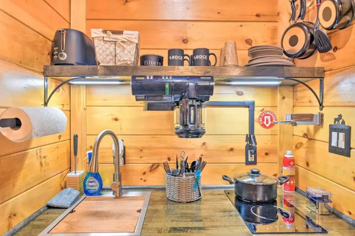
<instances>
[{"instance_id":1,"label":"grey woven wicker basket holding the cutlery on the countertop","mask_svg":"<svg viewBox=\"0 0 355 236\"><path fill-rule=\"evenodd\" d=\"M190 174L190 173L185 173ZM202 197L201 175L175 177L165 174L166 197L174 202L193 202Z\"/></svg>"}]
</instances>

